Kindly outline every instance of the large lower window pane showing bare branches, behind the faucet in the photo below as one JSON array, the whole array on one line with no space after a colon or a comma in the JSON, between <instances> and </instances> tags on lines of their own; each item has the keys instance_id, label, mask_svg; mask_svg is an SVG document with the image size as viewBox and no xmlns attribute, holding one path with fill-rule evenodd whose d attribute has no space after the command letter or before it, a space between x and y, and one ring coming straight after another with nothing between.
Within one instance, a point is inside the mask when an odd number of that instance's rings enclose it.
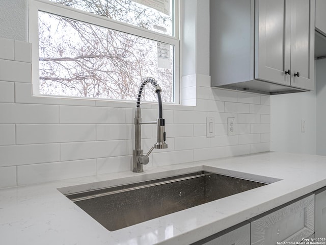
<instances>
[{"instance_id":1,"label":"large lower window pane showing bare branches, behind the faucet","mask_svg":"<svg viewBox=\"0 0 326 245\"><path fill-rule=\"evenodd\" d=\"M160 68L156 41L39 12L40 93L134 100L150 76L162 87L162 101L173 102L169 46L169 67ZM156 101L146 87L142 99Z\"/></svg>"}]
</instances>

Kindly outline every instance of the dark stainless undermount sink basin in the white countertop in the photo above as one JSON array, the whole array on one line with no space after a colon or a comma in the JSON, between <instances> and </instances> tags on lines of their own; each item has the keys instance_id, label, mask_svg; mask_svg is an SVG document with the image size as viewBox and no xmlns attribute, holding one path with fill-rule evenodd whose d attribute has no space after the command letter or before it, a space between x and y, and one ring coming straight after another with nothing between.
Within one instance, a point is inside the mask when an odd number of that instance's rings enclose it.
<instances>
[{"instance_id":1,"label":"dark stainless undermount sink basin in the white countertop","mask_svg":"<svg viewBox=\"0 0 326 245\"><path fill-rule=\"evenodd\" d=\"M66 197L107 230L115 231L263 185L200 171Z\"/></svg>"}]
</instances>

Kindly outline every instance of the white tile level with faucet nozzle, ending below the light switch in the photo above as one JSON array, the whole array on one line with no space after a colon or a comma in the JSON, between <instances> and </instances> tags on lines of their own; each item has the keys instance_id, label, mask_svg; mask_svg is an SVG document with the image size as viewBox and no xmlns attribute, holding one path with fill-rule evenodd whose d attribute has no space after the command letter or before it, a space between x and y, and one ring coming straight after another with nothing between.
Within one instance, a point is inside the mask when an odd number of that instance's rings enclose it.
<instances>
[{"instance_id":1,"label":"white tile level with faucet nozzle, ending below the light switch","mask_svg":"<svg viewBox=\"0 0 326 245\"><path fill-rule=\"evenodd\" d=\"M176 151L208 148L209 139L210 138L206 138L206 136L178 137L174 139L174 148Z\"/></svg>"}]
</instances>

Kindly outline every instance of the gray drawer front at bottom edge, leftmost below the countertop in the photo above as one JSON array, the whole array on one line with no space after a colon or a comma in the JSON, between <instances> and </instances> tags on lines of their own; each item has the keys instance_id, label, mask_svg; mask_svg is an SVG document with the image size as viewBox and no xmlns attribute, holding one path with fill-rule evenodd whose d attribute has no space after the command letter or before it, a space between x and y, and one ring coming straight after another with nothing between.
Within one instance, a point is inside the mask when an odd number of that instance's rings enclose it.
<instances>
[{"instance_id":1,"label":"gray drawer front at bottom edge, leftmost below the countertop","mask_svg":"<svg viewBox=\"0 0 326 245\"><path fill-rule=\"evenodd\" d=\"M196 245L199 243L195 243ZM241 226L222 236L216 237L203 245L250 245L250 224Z\"/></svg>"}]
</instances>

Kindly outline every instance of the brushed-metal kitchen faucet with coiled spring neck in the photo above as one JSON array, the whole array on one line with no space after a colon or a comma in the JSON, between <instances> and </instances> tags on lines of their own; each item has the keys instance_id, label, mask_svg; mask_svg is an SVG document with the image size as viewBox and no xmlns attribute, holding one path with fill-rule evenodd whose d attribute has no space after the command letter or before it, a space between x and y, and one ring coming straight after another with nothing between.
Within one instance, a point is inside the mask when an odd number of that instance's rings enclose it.
<instances>
[{"instance_id":1,"label":"brushed-metal kitchen faucet with coiled spring neck","mask_svg":"<svg viewBox=\"0 0 326 245\"><path fill-rule=\"evenodd\" d=\"M141 118L141 96L143 89L147 83L151 83L155 89L155 93L157 93L157 99L158 99L158 119L156 121L144 121L142 122ZM147 77L143 80L138 96L136 101L136 113L134 118L134 142L135 142L135 149L133 150L133 169L132 171L135 173L141 173L143 172L143 164L147 164L149 162L149 154L153 151L153 149L167 149L168 144L165 142L166 140L166 134L164 131L165 126L165 120L162 118L162 100L161 100L161 91L162 89L157 84L155 79L151 77ZM157 125L157 142L152 146L152 148L149 150L149 152L146 155L143 155L142 150L142 131L141 131L141 125L142 124L156 124Z\"/></svg>"}]
</instances>

